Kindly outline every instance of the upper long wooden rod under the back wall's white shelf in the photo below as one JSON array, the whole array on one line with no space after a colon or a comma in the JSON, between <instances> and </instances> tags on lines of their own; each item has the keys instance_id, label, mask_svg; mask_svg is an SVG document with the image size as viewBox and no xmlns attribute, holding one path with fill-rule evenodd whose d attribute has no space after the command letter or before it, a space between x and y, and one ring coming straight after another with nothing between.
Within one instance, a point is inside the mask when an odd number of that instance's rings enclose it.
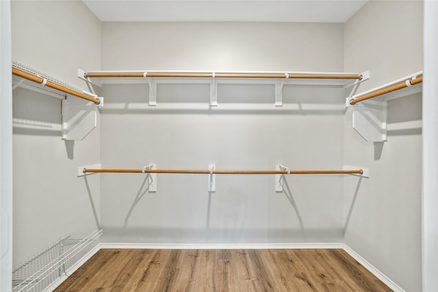
<instances>
[{"instance_id":1,"label":"upper long wooden rod under the back wall's white shelf","mask_svg":"<svg viewBox=\"0 0 438 292\"><path fill-rule=\"evenodd\" d=\"M213 77L213 73L85 73L90 77ZM218 78L289 78L289 79L345 79L361 80L361 75L285 75L254 73L215 73Z\"/></svg>"}]
</instances>

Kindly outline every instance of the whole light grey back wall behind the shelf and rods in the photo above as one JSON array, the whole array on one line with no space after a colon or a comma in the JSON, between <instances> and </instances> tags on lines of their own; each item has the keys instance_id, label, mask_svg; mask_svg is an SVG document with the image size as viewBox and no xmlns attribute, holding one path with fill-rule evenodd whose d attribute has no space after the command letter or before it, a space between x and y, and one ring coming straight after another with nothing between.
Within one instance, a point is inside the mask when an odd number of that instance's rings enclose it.
<instances>
[{"instance_id":1,"label":"whole light grey back wall behind the shelf and rods","mask_svg":"<svg viewBox=\"0 0 438 292\"><path fill-rule=\"evenodd\" d=\"M342 71L342 24L103 23L102 68L111 70ZM103 86L102 165L159 169L342 169L344 90L219 84ZM342 241L342 176L101 175L103 242L333 243Z\"/></svg>"}]
</instances>

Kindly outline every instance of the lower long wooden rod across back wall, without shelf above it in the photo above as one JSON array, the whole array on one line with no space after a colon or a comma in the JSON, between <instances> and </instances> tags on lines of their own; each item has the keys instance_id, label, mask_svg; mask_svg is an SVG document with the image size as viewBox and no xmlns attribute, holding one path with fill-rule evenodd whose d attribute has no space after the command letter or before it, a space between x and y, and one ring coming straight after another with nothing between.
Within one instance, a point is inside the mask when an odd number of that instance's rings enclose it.
<instances>
[{"instance_id":1,"label":"lower long wooden rod across back wall, without shelf above it","mask_svg":"<svg viewBox=\"0 0 438 292\"><path fill-rule=\"evenodd\" d=\"M83 173L192 173L209 174L209 170L186 170L186 169L83 169ZM359 170L320 170L320 171L232 171L214 170L213 174L362 174Z\"/></svg>"}]
</instances>

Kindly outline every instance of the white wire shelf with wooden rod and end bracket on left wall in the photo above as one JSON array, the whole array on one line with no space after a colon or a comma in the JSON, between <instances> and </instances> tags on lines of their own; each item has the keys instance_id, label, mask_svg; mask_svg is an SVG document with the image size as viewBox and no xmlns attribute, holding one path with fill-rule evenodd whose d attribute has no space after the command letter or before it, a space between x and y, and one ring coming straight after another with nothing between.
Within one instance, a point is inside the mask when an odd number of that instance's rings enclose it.
<instances>
[{"instance_id":1,"label":"white wire shelf with wooden rod and end bracket on left wall","mask_svg":"<svg viewBox=\"0 0 438 292\"><path fill-rule=\"evenodd\" d=\"M23 87L44 95L62 99L62 124L60 125L63 140L82 140L97 125L97 107L103 105L103 98L82 90L42 73L29 66L12 61L12 90ZM76 98L79 97L79 98ZM16 127L29 127L38 130L41 121L25 120L25 123L14 121ZM47 125L44 125L47 126ZM49 125L44 130L57 130L55 125Z\"/></svg>"}]
</instances>

